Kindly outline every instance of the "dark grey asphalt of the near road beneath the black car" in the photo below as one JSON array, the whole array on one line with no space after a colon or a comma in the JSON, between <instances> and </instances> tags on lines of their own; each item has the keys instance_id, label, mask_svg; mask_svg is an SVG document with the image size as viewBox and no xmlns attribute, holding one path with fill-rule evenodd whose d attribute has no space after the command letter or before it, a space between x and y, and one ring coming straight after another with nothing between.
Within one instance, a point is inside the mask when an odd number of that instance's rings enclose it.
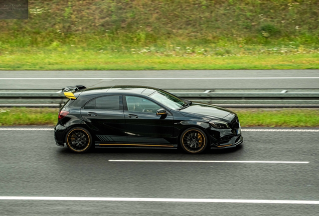
<instances>
[{"instance_id":1,"label":"dark grey asphalt of the near road beneath the black car","mask_svg":"<svg viewBox=\"0 0 319 216\"><path fill-rule=\"evenodd\" d=\"M0 196L319 200L318 132L243 131L244 144L74 154L53 131L0 131ZM309 163L111 162L109 159ZM318 215L318 204L0 200L0 215Z\"/></svg>"}]
</instances>

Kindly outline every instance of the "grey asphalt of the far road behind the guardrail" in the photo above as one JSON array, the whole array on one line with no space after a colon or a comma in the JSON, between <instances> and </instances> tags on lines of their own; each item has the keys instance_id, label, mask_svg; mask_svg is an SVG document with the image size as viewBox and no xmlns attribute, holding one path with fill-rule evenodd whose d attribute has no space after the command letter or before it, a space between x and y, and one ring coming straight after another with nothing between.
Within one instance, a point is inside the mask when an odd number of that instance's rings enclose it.
<instances>
[{"instance_id":1,"label":"grey asphalt of the far road behind the guardrail","mask_svg":"<svg viewBox=\"0 0 319 216\"><path fill-rule=\"evenodd\" d=\"M179 79L180 77L188 79ZM248 78L247 78L248 77ZM278 78L286 77L286 78ZM0 71L2 89L60 89L69 85L148 85L158 88L319 88L319 70ZM26 79L30 78L30 79ZM41 78L41 79L36 79ZM49 79L54 78L54 79ZM68 78L68 79L65 79ZM80 79L79 79L80 78ZM94 78L94 79L89 79ZM113 79L112 79L113 78ZM117 79L116 79L117 78ZM124 79L123 79L124 78ZM132 79L134 78L134 79ZM211 79L219 78L219 79ZM222 79L220 79L222 78Z\"/></svg>"}]
</instances>

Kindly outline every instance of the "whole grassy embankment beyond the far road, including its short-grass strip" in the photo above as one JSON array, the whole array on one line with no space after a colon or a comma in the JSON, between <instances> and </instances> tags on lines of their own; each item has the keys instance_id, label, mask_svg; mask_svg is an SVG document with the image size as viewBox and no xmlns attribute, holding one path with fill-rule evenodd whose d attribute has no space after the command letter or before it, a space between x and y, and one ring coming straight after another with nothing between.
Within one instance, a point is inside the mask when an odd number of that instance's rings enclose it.
<instances>
[{"instance_id":1,"label":"whole grassy embankment beyond the far road, including its short-grass strip","mask_svg":"<svg viewBox=\"0 0 319 216\"><path fill-rule=\"evenodd\" d=\"M316 0L29 0L28 20L0 20L0 69L319 68L317 8Z\"/></svg>"}]
</instances>

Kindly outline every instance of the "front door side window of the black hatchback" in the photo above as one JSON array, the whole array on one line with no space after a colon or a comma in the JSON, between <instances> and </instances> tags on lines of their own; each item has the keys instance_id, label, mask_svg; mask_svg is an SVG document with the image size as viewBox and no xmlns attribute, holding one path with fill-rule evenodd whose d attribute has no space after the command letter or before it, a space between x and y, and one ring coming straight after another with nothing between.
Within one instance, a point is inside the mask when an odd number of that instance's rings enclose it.
<instances>
[{"instance_id":1,"label":"front door side window of the black hatchback","mask_svg":"<svg viewBox=\"0 0 319 216\"><path fill-rule=\"evenodd\" d=\"M136 96L126 96L126 103L129 111L156 113L161 108L161 106L148 99Z\"/></svg>"}]
</instances>

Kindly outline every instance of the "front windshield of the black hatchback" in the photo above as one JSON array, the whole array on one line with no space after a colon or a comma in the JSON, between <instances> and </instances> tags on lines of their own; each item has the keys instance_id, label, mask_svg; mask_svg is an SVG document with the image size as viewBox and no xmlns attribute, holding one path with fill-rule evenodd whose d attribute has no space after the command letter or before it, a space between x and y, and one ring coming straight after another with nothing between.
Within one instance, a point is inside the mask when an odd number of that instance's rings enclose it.
<instances>
[{"instance_id":1,"label":"front windshield of the black hatchback","mask_svg":"<svg viewBox=\"0 0 319 216\"><path fill-rule=\"evenodd\" d=\"M154 93L150 94L149 97L171 109L180 109L186 105L186 102L183 99L166 91L157 90Z\"/></svg>"}]
</instances>

